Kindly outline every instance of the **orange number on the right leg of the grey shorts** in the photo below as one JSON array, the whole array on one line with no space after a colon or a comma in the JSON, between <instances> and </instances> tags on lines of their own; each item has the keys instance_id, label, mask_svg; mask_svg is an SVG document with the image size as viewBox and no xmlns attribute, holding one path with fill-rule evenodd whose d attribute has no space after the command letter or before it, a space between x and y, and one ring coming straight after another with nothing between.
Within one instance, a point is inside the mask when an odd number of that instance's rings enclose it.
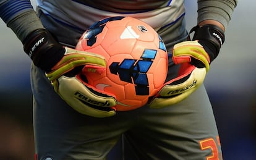
<instances>
[{"instance_id":1,"label":"orange number on the right leg of the grey shorts","mask_svg":"<svg viewBox=\"0 0 256 160\"><path fill-rule=\"evenodd\" d=\"M220 145L220 139L217 137L218 145ZM202 150L211 149L211 156L207 157L207 160L219 160L219 152L216 142L213 138L207 138L200 141L200 147Z\"/></svg>"}]
</instances>

